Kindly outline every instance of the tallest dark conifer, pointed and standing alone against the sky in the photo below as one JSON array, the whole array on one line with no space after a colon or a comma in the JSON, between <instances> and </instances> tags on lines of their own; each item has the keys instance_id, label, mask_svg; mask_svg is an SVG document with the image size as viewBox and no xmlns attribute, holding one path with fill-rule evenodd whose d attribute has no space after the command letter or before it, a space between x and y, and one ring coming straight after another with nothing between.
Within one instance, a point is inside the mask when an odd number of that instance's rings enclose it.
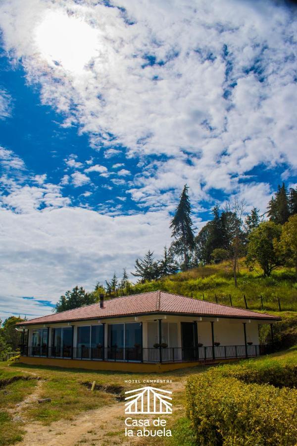
<instances>
[{"instance_id":1,"label":"tallest dark conifer, pointed and standing alone against the sky","mask_svg":"<svg viewBox=\"0 0 297 446\"><path fill-rule=\"evenodd\" d=\"M183 192L180 195L180 202L175 210L171 221L171 237L174 241L171 243L171 249L177 255L182 253L182 269L187 270L190 266L190 257L195 248L194 233L192 229L191 204L188 195L189 187L185 184Z\"/></svg>"}]
</instances>

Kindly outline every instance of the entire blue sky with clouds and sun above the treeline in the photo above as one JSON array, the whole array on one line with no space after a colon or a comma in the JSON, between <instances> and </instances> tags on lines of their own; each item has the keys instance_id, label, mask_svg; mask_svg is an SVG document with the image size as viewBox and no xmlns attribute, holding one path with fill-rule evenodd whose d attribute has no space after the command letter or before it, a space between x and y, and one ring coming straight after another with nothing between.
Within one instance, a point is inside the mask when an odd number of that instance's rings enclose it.
<instances>
[{"instance_id":1,"label":"entire blue sky with clouds and sun above the treeline","mask_svg":"<svg viewBox=\"0 0 297 446\"><path fill-rule=\"evenodd\" d=\"M0 2L0 318L49 314L148 249L297 184L297 7ZM132 277L130 276L130 279Z\"/></svg>"}]
</instances>

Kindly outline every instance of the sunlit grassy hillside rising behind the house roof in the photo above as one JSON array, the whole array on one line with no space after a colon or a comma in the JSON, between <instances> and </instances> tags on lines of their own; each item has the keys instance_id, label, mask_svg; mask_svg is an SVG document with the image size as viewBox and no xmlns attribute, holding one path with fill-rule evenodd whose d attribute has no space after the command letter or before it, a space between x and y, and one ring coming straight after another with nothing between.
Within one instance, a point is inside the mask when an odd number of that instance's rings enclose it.
<instances>
[{"instance_id":1,"label":"sunlit grassy hillside rising behind the house roof","mask_svg":"<svg viewBox=\"0 0 297 446\"><path fill-rule=\"evenodd\" d=\"M231 263L222 262L132 287L133 293L157 289L226 305L232 301L233 306L242 308L246 307L245 295L248 309L258 311L279 311L279 299L282 311L297 311L297 281L293 269L278 268L271 277L264 278L260 268L259 274L248 271L244 259L240 261L238 288L234 286Z\"/></svg>"}]
</instances>

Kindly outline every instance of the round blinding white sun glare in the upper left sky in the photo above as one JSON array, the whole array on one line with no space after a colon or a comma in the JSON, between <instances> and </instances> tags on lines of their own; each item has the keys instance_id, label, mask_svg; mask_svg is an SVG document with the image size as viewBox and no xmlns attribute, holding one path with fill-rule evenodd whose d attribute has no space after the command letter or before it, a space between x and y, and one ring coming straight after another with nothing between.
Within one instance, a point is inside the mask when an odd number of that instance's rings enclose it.
<instances>
[{"instance_id":1,"label":"round blinding white sun glare in the upper left sky","mask_svg":"<svg viewBox=\"0 0 297 446\"><path fill-rule=\"evenodd\" d=\"M50 66L61 65L73 74L82 73L97 52L98 33L76 17L49 11L35 30L41 56Z\"/></svg>"}]
</instances>

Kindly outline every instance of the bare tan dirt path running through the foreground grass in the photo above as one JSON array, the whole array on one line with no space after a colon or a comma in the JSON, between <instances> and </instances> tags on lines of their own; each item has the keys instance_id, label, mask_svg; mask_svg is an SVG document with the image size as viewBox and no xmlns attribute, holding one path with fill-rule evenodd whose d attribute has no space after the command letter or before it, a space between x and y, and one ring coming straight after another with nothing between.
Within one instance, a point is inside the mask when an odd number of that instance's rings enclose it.
<instances>
[{"instance_id":1,"label":"bare tan dirt path running through the foreground grass","mask_svg":"<svg viewBox=\"0 0 297 446\"><path fill-rule=\"evenodd\" d=\"M40 380L42 381L42 380ZM39 382L40 383L40 382ZM42 384L42 383L41 383ZM29 404L38 399L38 389L23 401ZM173 383L168 390L174 392L184 388L185 380ZM22 406L19 411L21 412ZM180 407L176 407L180 409ZM124 436L124 402L81 413L74 421L59 420L50 426L30 423L24 426L26 434L19 446L78 446L84 445L134 445L141 439Z\"/></svg>"}]
</instances>

